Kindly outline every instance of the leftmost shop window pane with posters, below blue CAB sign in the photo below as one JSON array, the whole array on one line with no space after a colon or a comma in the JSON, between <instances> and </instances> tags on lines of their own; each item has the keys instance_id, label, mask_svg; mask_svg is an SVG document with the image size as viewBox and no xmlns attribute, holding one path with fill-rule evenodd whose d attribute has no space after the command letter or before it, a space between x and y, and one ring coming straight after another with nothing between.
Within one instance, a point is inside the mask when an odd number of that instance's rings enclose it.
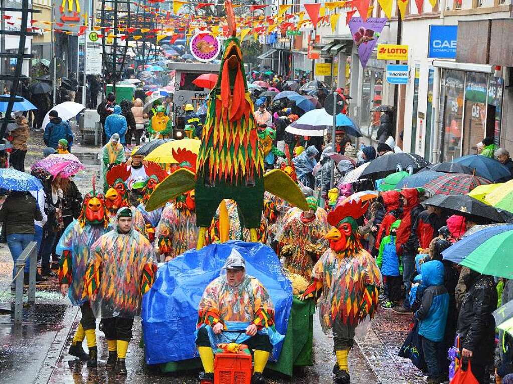
<instances>
[{"instance_id":1,"label":"leftmost shop window pane with posters, below blue CAB sign","mask_svg":"<svg viewBox=\"0 0 513 384\"><path fill-rule=\"evenodd\" d=\"M443 161L452 161L461 156L463 130L463 95L465 72L445 70L443 83L443 134L441 150Z\"/></svg>"}]
</instances>

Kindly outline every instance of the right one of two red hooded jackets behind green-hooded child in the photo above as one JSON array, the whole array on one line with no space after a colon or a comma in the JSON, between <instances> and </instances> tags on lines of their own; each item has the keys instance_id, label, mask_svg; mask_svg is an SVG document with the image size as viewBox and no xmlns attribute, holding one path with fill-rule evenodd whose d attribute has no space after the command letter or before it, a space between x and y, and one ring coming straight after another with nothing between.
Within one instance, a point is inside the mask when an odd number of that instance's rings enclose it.
<instances>
[{"instance_id":1,"label":"right one of two red hooded jackets behind green-hooded child","mask_svg":"<svg viewBox=\"0 0 513 384\"><path fill-rule=\"evenodd\" d=\"M409 188L401 191L406 198L406 205L403 207L401 225L397 229L396 249L399 255L415 255L419 247L417 233L412 230L413 224L422 212L422 205L419 204L419 193L417 189Z\"/></svg>"}]
</instances>

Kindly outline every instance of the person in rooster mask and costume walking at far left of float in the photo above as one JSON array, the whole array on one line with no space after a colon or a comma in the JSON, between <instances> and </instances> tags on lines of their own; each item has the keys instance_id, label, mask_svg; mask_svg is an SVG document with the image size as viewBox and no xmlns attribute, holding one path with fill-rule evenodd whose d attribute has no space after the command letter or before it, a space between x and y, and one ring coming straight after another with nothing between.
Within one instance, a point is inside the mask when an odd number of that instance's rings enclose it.
<instances>
[{"instance_id":1,"label":"person in rooster mask and costume walking at far left of float","mask_svg":"<svg viewBox=\"0 0 513 384\"><path fill-rule=\"evenodd\" d=\"M67 288L71 304L80 306L82 312L69 354L87 360L90 368L97 365L96 322L89 298L84 295L84 276L91 245L110 229L103 194L96 193L95 177L92 185L92 191L85 196L82 203L80 216L64 230L56 247L56 253L61 257L58 271L61 291L64 294ZM82 349L84 338L87 338L89 356Z\"/></svg>"}]
</instances>

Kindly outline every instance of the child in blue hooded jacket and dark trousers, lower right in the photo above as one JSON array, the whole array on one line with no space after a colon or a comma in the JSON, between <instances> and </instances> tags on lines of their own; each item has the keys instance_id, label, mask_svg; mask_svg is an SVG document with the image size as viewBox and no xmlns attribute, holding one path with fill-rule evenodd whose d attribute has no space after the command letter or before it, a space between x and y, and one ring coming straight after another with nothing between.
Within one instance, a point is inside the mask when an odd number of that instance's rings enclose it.
<instances>
[{"instance_id":1,"label":"child in blue hooded jacket and dark trousers, lower right","mask_svg":"<svg viewBox=\"0 0 513 384\"><path fill-rule=\"evenodd\" d=\"M444 382L443 367L447 351L443 350L445 325L449 310L449 294L444 286L444 265L438 260L421 265L422 303L415 317L428 371L428 384Z\"/></svg>"}]
</instances>

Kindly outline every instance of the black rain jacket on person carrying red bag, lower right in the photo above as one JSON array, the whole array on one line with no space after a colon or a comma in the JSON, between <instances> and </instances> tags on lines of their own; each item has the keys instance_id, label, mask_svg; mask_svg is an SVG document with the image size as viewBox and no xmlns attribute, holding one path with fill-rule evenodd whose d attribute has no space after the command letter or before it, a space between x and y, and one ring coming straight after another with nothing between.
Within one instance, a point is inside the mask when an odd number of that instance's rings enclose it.
<instances>
[{"instance_id":1,"label":"black rain jacket on person carrying red bag, lower right","mask_svg":"<svg viewBox=\"0 0 513 384\"><path fill-rule=\"evenodd\" d=\"M481 365L494 363L495 319L492 312L499 300L494 278L470 272L465 276L467 293L458 316L457 334L462 348L473 352Z\"/></svg>"}]
</instances>

